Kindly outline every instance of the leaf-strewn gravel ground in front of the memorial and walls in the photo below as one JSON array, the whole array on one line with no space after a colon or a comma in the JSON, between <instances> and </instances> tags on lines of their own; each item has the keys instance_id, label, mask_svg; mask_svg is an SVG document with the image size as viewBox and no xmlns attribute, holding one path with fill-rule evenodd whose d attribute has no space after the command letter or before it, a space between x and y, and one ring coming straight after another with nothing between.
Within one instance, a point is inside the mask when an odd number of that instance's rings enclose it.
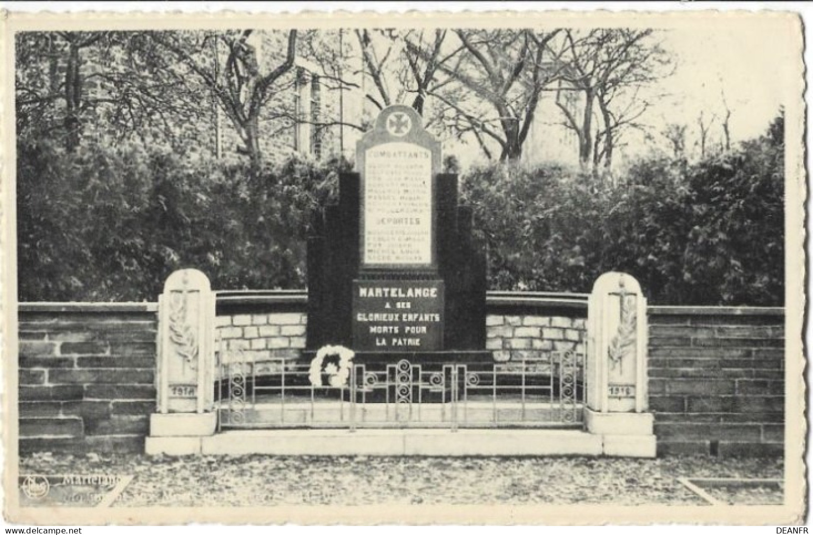
<instances>
[{"instance_id":1,"label":"leaf-strewn gravel ground in front of the memorial and walls","mask_svg":"<svg viewBox=\"0 0 813 535\"><path fill-rule=\"evenodd\" d=\"M20 474L133 475L114 507L707 505L678 477L781 478L780 459L32 455ZM771 502L768 502L771 503Z\"/></svg>"}]
</instances>

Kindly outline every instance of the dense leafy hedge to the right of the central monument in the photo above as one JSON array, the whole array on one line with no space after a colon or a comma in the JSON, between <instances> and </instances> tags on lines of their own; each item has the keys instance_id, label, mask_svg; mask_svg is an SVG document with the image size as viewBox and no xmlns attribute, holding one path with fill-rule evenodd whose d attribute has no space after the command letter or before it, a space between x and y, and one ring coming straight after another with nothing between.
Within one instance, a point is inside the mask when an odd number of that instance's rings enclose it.
<instances>
[{"instance_id":1,"label":"dense leafy hedge to the right of the central monument","mask_svg":"<svg viewBox=\"0 0 813 535\"><path fill-rule=\"evenodd\" d=\"M655 304L782 304L783 127L696 164L638 162L616 185L555 167L473 171L464 194L490 286L588 292L620 270Z\"/></svg>"}]
</instances>

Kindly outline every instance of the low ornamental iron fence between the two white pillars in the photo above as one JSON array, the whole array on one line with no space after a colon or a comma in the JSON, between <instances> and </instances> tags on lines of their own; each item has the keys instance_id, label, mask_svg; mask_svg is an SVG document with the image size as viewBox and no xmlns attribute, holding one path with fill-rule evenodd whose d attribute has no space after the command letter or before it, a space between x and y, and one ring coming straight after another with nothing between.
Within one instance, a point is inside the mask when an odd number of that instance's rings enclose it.
<instances>
[{"instance_id":1,"label":"low ornamental iron fence between the two white pillars","mask_svg":"<svg viewBox=\"0 0 813 535\"><path fill-rule=\"evenodd\" d=\"M354 364L345 386L314 386L310 366L220 352L220 429L474 428L580 425L584 355L538 352L506 363Z\"/></svg>"}]
</instances>

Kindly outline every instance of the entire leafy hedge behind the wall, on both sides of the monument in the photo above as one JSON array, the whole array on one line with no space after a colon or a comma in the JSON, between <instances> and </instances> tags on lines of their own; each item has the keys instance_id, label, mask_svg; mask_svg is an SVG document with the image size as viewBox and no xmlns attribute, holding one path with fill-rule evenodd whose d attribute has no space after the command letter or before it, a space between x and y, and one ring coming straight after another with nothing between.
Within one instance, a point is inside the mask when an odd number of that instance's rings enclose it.
<instances>
[{"instance_id":1,"label":"entire leafy hedge behind the wall, on both sides of the monument","mask_svg":"<svg viewBox=\"0 0 813 535\"><path fill-rule=\"evenodd\" d=\"M782 304L782 126L703 162L638 162L614 185L556 167L473 170L463 197L490 287L587 292L621 270L655 304ZM290 160L250 178L248 164L134 145L21 142L20 300L154 300L181 267L216 289L304 287L308 217L342 165Z\"/></svg>"}]
</instances>

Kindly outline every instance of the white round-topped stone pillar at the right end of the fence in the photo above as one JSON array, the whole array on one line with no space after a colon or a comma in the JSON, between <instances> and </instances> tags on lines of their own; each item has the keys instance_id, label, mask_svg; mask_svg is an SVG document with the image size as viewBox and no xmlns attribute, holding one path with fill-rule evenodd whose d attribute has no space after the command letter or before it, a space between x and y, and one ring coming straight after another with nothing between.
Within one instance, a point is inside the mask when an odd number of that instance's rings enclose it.
<instances>
[{"instance_id":1,"label":"white round-topped stone pillar at the right end of the fence","mask_svg":"<svg viewBox=\"0 0 813 535\"><path fill-rule=\"evenodd\" d=\"M628 274L602 274L587 310L585 426L605 455L654 457L646 385L646 297Z\"/></svg>"}]
</instances>

